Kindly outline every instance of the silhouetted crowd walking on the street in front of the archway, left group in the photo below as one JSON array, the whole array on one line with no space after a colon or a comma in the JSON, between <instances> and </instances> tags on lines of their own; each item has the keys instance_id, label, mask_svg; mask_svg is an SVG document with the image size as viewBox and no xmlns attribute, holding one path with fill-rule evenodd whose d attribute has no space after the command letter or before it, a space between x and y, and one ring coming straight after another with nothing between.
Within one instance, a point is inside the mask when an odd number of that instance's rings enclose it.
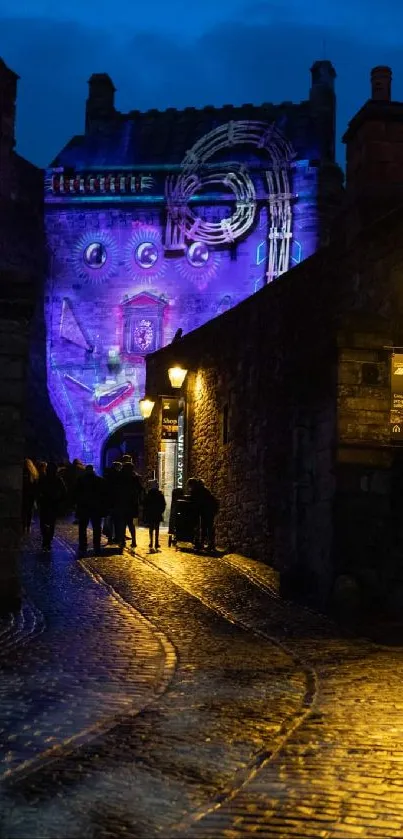
<instances>
[{"instance_id":1,"label":"silhouetted crowd walking on the street in front of the archway, left group","mask_svg":"<svg viewBox=\"0 0 403 839\"><path fill-rule=\"evenodd\" d=\"M22 529L29 533L35 506L39 511L42 549L50 551L57 518L74 512L78 524L79 551L87 551L87 527L92 526L95 553L101 550L101 534L108 544L123 551L126 528L135 548L136 521L142 505L143 519L150 535L150 550L158 550L159 528L166 502L157 481L150 481L145 491L134 468L131 455L123 455L99 477L93 466L79 460L56 466L26 459L23 470Z\"/></svg>"}]
</instances>

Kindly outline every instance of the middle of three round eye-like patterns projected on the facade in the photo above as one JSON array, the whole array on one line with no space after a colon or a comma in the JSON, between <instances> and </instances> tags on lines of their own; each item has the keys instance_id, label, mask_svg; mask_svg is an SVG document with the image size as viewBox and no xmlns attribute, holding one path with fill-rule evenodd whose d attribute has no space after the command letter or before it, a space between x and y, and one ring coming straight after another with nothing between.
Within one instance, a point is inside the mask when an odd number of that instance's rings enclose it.
<instances>
[{"instance_id":1,"label":"middle of three round eye-like patterns projected on the facade","mask_svg":"<svg viewBox=\"0 0 403 839\"><path fill-rule=\"evenodd\" d=\"M124 260L134 280L149 282L161 277L166 260L159 229L138 222L126 244Z\"/></svg>"}]
</instances>

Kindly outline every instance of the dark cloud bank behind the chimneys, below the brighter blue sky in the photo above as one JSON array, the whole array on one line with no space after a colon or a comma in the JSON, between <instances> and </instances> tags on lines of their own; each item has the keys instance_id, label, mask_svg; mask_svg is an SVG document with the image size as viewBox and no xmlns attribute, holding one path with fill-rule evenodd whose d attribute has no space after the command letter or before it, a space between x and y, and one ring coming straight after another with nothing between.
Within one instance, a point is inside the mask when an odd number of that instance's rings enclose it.
<instances>
[{"instance_id":1,"label":"dark cloud bank behind the chimneys, below the brighter blue sky","mask_svg":"<svg viewBox=\"0 0 403 839\"><path fill-rule=\"evenodd\" d=\"M111 75L123 111L297 102L308 96L309 68L323 57L325 39L326 57L338 75L340 135L369 96L371 66L392 65L394 97L403 99L401 51L380 41L362 42L331 26L249 18L218 24L186 40L157 31L129 32L123 39L122 33L78 23L3 19L0 33L0 55L21 76L18 148L41 165L82 132L87 79L93 72Z\"/></svg>"}]
</instances>

